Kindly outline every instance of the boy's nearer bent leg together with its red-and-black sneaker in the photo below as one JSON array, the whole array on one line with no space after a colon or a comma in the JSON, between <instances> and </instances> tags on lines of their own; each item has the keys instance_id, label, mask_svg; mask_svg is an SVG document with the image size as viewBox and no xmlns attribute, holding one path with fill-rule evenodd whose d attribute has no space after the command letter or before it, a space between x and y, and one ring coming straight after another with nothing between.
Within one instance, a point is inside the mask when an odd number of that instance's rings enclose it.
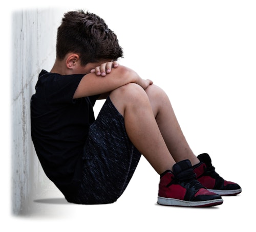
<instances>
[{"instance_id":1,"label":"boy's nearer bent leg together with its red-and-black sneaker","mask_svg":"<svg viewBox=\"0 0 256 232\"><path fill-rule=\"evenodd\" d=\"M124 85L112 91L110 99L123 115L131 142L160 174L159 204L197 207L222 204L218 194L207 191L196 180L188 159L175 163L155 119L160 110L151 104L147 93L139 85ZM169 116L173 117L170 113ZM173 120L170 130L173 126L177 127L176 122Z\"/></svg>"}]
</instances>

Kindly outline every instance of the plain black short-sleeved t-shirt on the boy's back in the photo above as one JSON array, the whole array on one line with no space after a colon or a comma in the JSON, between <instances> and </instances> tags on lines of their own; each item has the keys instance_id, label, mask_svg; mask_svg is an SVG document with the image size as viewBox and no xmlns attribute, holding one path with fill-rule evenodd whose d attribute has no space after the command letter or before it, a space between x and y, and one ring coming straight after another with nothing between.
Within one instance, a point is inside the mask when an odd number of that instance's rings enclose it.
<instances>
[{"instance_id":1,"label":"plain black short-sleeved t-shirt on the boy's back","mask_svg":"<svg viewBox=\"0 0 256 232\"><path fill-rule=\"evenodd\" d=\"M73 99L84 75L42 70L31 97L31 136L46 175L66 196L76 194L82 151L99 96Z\"/></svg>"}]
</instances>

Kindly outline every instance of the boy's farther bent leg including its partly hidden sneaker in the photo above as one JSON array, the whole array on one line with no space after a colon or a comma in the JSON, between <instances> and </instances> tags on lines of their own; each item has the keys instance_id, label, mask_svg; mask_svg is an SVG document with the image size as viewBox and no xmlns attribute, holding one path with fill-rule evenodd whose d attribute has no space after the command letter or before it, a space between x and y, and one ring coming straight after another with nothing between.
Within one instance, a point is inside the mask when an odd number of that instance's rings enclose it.
<instances>
[{"instance_id":1,"label":"boy's farther bent leg including its partly hidden sneaker","mask_svg":"<svg viewBox=\"0 0 256 232\"><path fill-rule=\"evenodd\" d=\"M220 195L241 193L241 187L237 183L226 181L215 172L208 154L201 154L197 157L194 155L180 129L165 92L156 85L152 85L146 89L146 93L150 99L161 134L175 161L189 159L198 180L212 192Z\"/></svg>"}]
</instances>

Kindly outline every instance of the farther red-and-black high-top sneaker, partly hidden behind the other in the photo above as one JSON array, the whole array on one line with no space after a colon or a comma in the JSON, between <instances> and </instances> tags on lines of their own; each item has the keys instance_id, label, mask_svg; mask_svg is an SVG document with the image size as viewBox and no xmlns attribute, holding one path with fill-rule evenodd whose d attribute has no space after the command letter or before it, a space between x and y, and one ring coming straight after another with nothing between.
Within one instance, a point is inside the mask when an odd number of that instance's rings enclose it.
<instances>
[{"instance_id":1,"label":"farther red-and-black high-top sneaker, partly hidden behind the other","mask_svg":"<svg viewBox=\"0 0 256 232\"><path fill-rule=\"evenodd\" d=\"M242 192L241 187L234 182L226 181L215 171L210 156L206 153L198 156L200 163L193 166L197 180L209 191L221 196L232 196Z\"/></svg>"}]
</instances>

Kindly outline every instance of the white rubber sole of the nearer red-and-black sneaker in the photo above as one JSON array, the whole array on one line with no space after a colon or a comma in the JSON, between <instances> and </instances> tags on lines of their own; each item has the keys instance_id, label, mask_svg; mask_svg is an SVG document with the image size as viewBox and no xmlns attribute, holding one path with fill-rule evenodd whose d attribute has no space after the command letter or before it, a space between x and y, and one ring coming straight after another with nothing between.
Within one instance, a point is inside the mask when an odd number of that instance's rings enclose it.
<instances>
[{"instance_id":1,"label":"white rubber sole of the nearer red-and-black sneaker","mask_svg":"<svg viewBox=\"0 0 256 232\"><path fill-rule=\"evenodd\" d=\"M168 206L184 206L184 207L211 207L223 203L223 199L215 199L208 201L184 201L174 198L158 197L158 204Z\"/></svg>"}]
</instances>

